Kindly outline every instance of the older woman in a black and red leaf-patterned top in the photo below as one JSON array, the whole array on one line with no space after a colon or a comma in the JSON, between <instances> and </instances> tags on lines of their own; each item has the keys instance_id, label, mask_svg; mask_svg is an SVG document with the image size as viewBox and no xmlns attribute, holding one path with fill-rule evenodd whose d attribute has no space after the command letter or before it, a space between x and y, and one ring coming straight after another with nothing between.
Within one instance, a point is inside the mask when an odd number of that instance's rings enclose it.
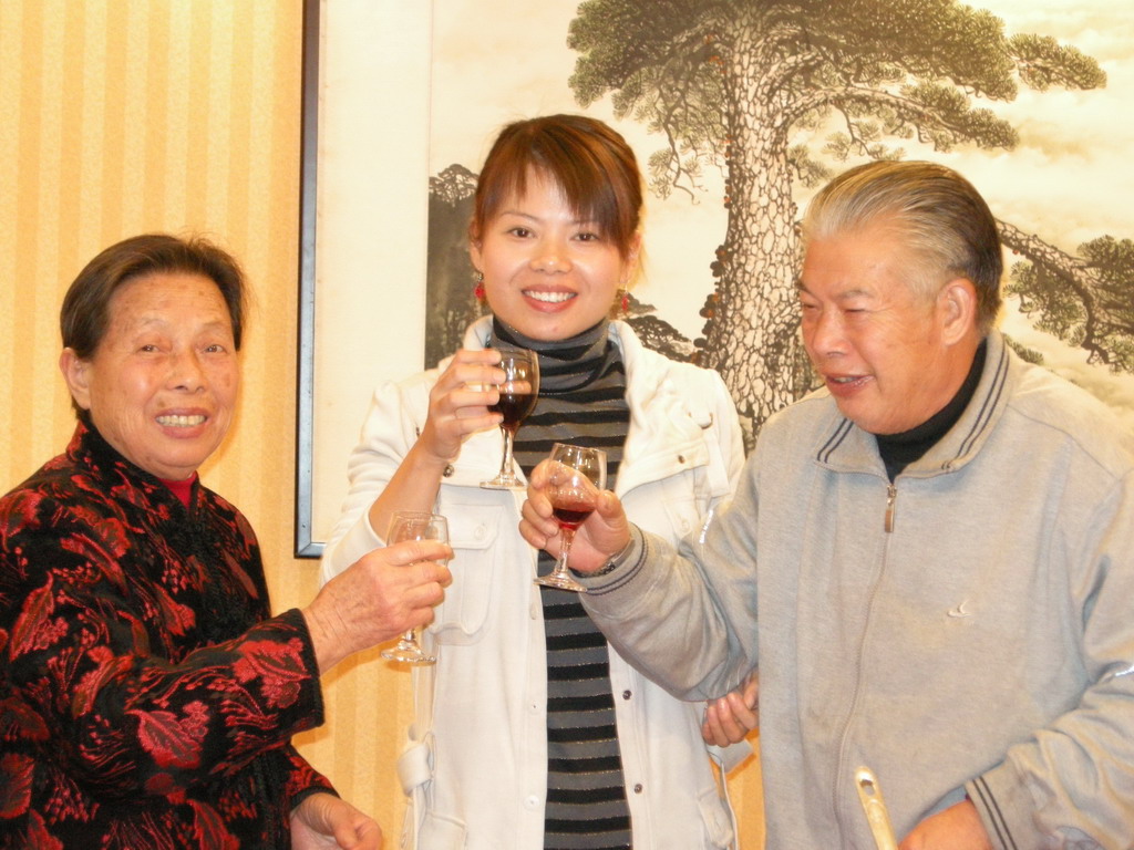
<instances>
[{"instance_id":1,"label":"older woman in a black and red leaf-patterned top","mask_svg":"<svg viewBox=\"0 0 1134 850\"><path fill-rule=\"evenodd\" d=\"M196 474L243 324L240 270L203 240L127 239L67 292L79 423L0 500L0 848L381 840L289 739L322 722L322 671L430 620L450 552L389 547L270 615L252 528Z\"/></svg>"}]
</instances>

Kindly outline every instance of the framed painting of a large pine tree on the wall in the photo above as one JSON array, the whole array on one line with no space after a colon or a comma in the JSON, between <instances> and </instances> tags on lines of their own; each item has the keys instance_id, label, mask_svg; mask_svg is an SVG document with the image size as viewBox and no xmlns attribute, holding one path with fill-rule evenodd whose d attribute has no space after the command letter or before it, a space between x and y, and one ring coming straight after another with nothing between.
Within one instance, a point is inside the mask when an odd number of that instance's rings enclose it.
<instances>
[{"instance_id":1,"label":"framed painting of a large pine tree on the wall","mask_svg":"<svg viewBox=\"0 0 1134 850\"><path fill-rule=\"evenodd\" d=\"M880 156L940 161L973 181L1008 248L1002 329L1134 427L1124 5L912 2L898 16L887 0L877 15L748 0L324 0L319 20L307 2L320 35L308 32L305 104L319 126L305 118L297 553L318 554L333 524L374 384L451 352L475 311L464 243L491 139L552 112L606 120L637 153L651 190L631 322L648 345L718 369L750 437L810 380L795 330L798 213L828 177ZM950 22L973 41L946 37L938 24ZM761 53L765 37L781 41ZM828 45L818 66L802 57L816 42ZM801 60L771 61L784 51ZM736 94L773 83L777 97Z\"/></svg>"}]
</instances>

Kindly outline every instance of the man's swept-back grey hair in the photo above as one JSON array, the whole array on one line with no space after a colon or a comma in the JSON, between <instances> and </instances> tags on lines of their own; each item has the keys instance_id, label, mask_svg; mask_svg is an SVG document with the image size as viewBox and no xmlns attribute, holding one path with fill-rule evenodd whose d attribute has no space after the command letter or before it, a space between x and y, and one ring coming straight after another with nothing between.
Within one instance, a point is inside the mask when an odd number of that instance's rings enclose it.
<instances>
[{"instance_id":1,"label":"man's swept-back grey hair","mask_svg":"<svg viewBox=\"0 0 1134 850\"><path fill-rule=\"evenodd\" d=\"M914 254L917 292L932 297L959 275L976 289L976 325L988 333L1000 312L1004 253L996 219L964 177L933 162L869 162L824 186L803 219L804 247L872 224L892 226Z\"/></svg>"}]
</instances>

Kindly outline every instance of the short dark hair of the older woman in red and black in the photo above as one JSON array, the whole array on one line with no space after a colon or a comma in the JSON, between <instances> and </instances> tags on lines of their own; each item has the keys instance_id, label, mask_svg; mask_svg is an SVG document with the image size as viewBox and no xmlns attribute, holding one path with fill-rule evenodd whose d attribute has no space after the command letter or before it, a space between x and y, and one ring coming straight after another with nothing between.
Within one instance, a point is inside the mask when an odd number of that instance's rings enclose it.
<instances>
[{"instance_id":1,"label":"short dark hair of the older woman in red and black","mask_svg":"<svg viewBox=\"0 0 1134 850\"><path fill-rule=\"evenodd\" d=\"M232 322L232 341L239 350L247 297L239 263L203 237L180 239L168 233L122 239L83 267L64 296L59 312L64 347L74 350L79 359L90 360L107 335L115 292L133 280L176 272L200 274L217 284ZM88 422L87 411L74 399L71 407L81 419Z\"/></svg>"}]
</instances>

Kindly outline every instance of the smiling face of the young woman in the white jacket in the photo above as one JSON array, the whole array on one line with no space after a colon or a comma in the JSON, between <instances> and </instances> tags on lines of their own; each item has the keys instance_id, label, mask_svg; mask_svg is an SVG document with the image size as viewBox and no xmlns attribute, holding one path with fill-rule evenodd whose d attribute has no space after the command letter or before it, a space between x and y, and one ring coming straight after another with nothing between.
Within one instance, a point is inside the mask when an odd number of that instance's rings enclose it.
<instances>
[{"instance_id":1,"label":"smiling face of the young woman in the white jacket","mask_svg":"<svg viewBox=\"0 0 1134 850\"><path fill-rule=\"evenodd\" d=\"M579 221L559 187L532 172L523 197L508 198L469 253L484 274L492 312L525 337L569 339L598 324L637 262Z\"/></svg>"}]
</instances>

